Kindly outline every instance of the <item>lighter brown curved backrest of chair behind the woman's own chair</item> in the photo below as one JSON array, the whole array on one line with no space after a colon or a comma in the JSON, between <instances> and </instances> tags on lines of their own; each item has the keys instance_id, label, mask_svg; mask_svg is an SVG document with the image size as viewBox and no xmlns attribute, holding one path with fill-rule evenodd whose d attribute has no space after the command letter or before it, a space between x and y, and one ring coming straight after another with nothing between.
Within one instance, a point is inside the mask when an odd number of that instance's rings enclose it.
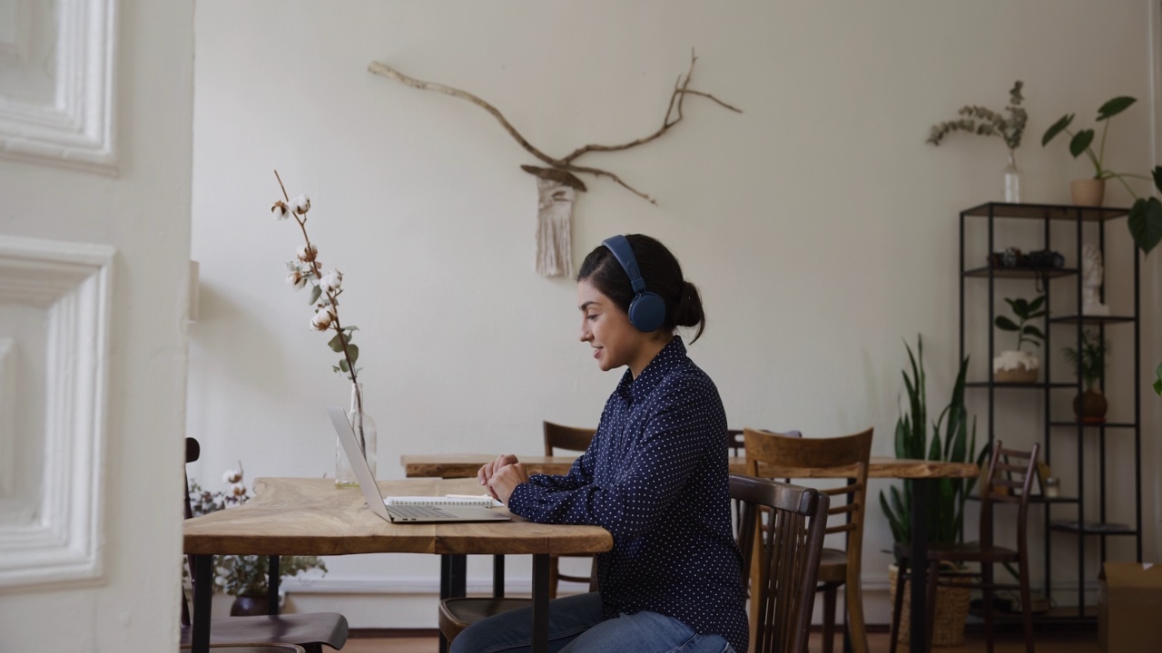
<instances>
[{"instance_id":1,"label":"lighter brown curved backrest of chair behind the woman's own chair","mask_svg":"<svg viewBox=\"0 0 1162 653\"><path fill-rule=\"evenodd\" d=\"M779 433L766 433L745 429L746 472L752 476L768 476L770 465L797 469L842 473L847 482L822 490L834 497L846 496L847 501L832 501L830 515L842 515L838 523L827 524L827 533L847 533L847 581L859 587L860 561L863 550L863 515L867 505L868 461L871 458L871 429L853 436L839 438L789 438Z\"/></svg>"}]
</instances>

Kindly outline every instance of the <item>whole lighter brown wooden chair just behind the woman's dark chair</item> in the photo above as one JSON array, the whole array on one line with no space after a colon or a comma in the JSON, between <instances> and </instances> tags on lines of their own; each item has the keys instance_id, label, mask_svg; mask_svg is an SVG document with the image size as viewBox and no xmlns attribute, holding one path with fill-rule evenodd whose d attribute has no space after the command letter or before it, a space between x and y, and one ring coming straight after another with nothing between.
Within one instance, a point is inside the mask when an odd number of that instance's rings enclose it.
<instances>
[{"instance_id":1,"label":"whole lighter brown wooden chair just behind the woman's dark chair","mask_svg":"<svg viewBox=\"0 0 1162 653\"><path fill-rule=\"evenodd\" d=\"M823 490L831 497L844 495L846 502L832 504L830 515L842 515L844 523L830 523L827 534L847 533L845 548L824 548L819 562L818 590L824 593L823 651L834 647L838 588L846 584L847 633L852 651L868 652L863 622L863 590L860 571L863 558L863 515L867 507L868 461L871 457L871 429L840 438L790 438L752 429L744 430L746 469L766 476L767 465L796 468L842 471L847 485ZM753 610L752 610L753 618Z\"/></svg>"}]
</instances>

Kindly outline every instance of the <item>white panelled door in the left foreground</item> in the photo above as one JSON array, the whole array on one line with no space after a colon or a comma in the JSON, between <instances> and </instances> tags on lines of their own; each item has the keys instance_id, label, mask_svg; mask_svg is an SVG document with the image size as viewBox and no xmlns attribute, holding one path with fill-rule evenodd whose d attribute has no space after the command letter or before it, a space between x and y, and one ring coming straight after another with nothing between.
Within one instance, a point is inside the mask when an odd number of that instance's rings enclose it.
<instances>
[{"instance_id":1,"label":"white panelled door in the left foreground","mask_svg":"<svg viewBox=\"0 0 1162 653\"><path fill-rule=\"evenodd\" d=\"M92 425L105 433L103 446L96 451L49 449L38 461L43 471L22 471L38 479L69 460L91 467L99 489L74 505L80 510L70 518L100 522L99 573L84 581L3 588L0 651L6 652L167 651L175 650L178 641L178 507L182 491L178 471L186 419L193 2L85 1L67 7L69 12L79 8L84 13L105 5L115 16L109 36L117 36L110 46L116 65L109 107L119 174L0 159L0 241L65 241L112 245L116 251L109 280L109 345L95 356L102 359L106 378L59 379L55 372L63 387L103 388L103 401L94 411L98 424ZM6 2L3 7L12 10L6 16L21 19L29 19L26 12L34 8L31 16L37 19L72 15L62 2ZM59 57L64 41L37 46ZM31 65L36 72L51 76L53 63L50 57ZM85 63L98 65L93 59ZM100 78L96 82L103 85ZM6 277L6 294L10 296L12 280ZM16 446L27 451L44 445L44 422L59 417L44 415L44 395L59 392L59 387L45 387L45 366L53 363L51 353L45 353L45 343L51 352L60 333L14 326L21 321L13 310L20 303L0 302L5 311L0 337L15 336L24 356L17 363L36 369L19 379L21 396L28 403L14 407L16 423L42 426L20 431ZM95 310L93 304L78 307L83 314ZM31 308L24 311L35 313ZM44 328L43 322L36 325ZM79 349L88 352L89 347L86 342ZM71 361L58 363L63 365L56 369ZM79 408L67 406L65 410ZM71 415L78 421L86 416L79 411ZM48 507L46 512L57 509ZM40 515L42 519L53 517Z\"/></svg>"}]
</instances>

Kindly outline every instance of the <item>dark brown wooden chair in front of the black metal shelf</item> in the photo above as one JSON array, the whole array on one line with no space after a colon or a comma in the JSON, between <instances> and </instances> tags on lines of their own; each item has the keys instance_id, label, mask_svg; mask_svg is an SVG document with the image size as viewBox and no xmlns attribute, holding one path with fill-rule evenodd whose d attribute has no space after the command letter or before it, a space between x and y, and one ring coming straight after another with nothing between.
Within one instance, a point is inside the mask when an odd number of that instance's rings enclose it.
<instances>
[{"instance_id":1,"label":"dark brown wooden chair in front of the black metal shelf","mask_svg":"<svg viewBox=\"0 0 1162 653\"><path fill-rule=\"evenodd\" d=\"M981 488L981 526L980 541L963 544L931 544L928 546L928 637L932 636L932 617L935 615L937 587L954 586L978 588L983 591L984 608L984 637L988 643L988 651L992 653L992 595L997 589L1020 590L1021 620L1025 626L1025 651L1033 653L1033 613L1030 609L1028 587L1028 538L1026 526L1028 522L1028 496L1033 487L1033 475L1037 473L1037 457L1040 453L1040 444L1034 444L1032 451L1017 451L1004 449L1000 440L992 443L992 459L989 462L989 472L985 475L984 486ZM1017 550L997 546L994 544L992 517L996 503L1017 504ZM896 604L892 607L891 618L891 653L896 653L896 637L899 624L899 613L904 607L903 582L911 574L908 573L909 555L911 548L906 543L897 543L895 547L899 576L897 580ZM955 572L939 573L940 562L953 562L962 567L968 562L981 565L980 572ZM994 565L1017 565L1017 583L998 583L994 580ZM966 579L968 582L966 582ZM980 580L975 580L980 579ZM931 648L932 641L927 643L925 650Z\"/></svg>"}]
</instances>

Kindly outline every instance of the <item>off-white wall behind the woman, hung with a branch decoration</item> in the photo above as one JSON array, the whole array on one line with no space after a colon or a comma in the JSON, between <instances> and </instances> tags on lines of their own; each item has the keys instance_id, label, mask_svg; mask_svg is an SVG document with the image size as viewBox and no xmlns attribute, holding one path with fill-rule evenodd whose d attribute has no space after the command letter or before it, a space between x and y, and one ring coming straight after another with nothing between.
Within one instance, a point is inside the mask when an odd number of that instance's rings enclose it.
<instances>
[{"instance_id":1,"label":"off-white wall behind the woman, hung with a branch decoration","mask_svg":"<svg viewBox=\"0 0 1162 653\"><path fill-rule=\"evenodd\" d=\"M928 127L964 103L1000 109L1024 80L1025 199L1067 203L1085 166L1063 143L1042 149L1041 134L1063 113L1088 120L1131 94L1142 101L1118 117L1109 163L1146 171L1149 24L1143 0L202 1L192 245L202 313L187 425L205 455L192 473L214 485L238 460L251 480L333 473L322 407L345 404L347 387L330 372L329 336L307 328L306 295L282 284L301 236L268 217L272 168L292 196L311 195L320 258L346 274L342 310L361 329L380 478L400 478L406 453L536 453L541 419L595 424L619 378L576 342L574 284L533 272L535 182L518 167L532 157L480 108L367 73L373 59L476 93L564 155L657 129L696 48L694 86L745 113L691 98L661 139L581 159L658 206L586 179L574 260L611 234L659 237L702 289L709 328L690 353L732 425L816 437L871 425L874 453L890 455L904 340L925 337L933 404L955 374L957 211L1002 199L999 139L957 134L935 149ZM1111 194L1127 203L1124 189ZM1159 257L1145 297L1157 296ZM1153 349L1149 360L1162 358ZM1156 404L1143 416L1143 464L1156 467ZM890 533L870 512L874 595ZM435 625L435 558L329 565L320 591L402 597L374 608L346 597L354 626ZM485 582L482 566L473 573Z\"/></svg>"}]
</instances>

